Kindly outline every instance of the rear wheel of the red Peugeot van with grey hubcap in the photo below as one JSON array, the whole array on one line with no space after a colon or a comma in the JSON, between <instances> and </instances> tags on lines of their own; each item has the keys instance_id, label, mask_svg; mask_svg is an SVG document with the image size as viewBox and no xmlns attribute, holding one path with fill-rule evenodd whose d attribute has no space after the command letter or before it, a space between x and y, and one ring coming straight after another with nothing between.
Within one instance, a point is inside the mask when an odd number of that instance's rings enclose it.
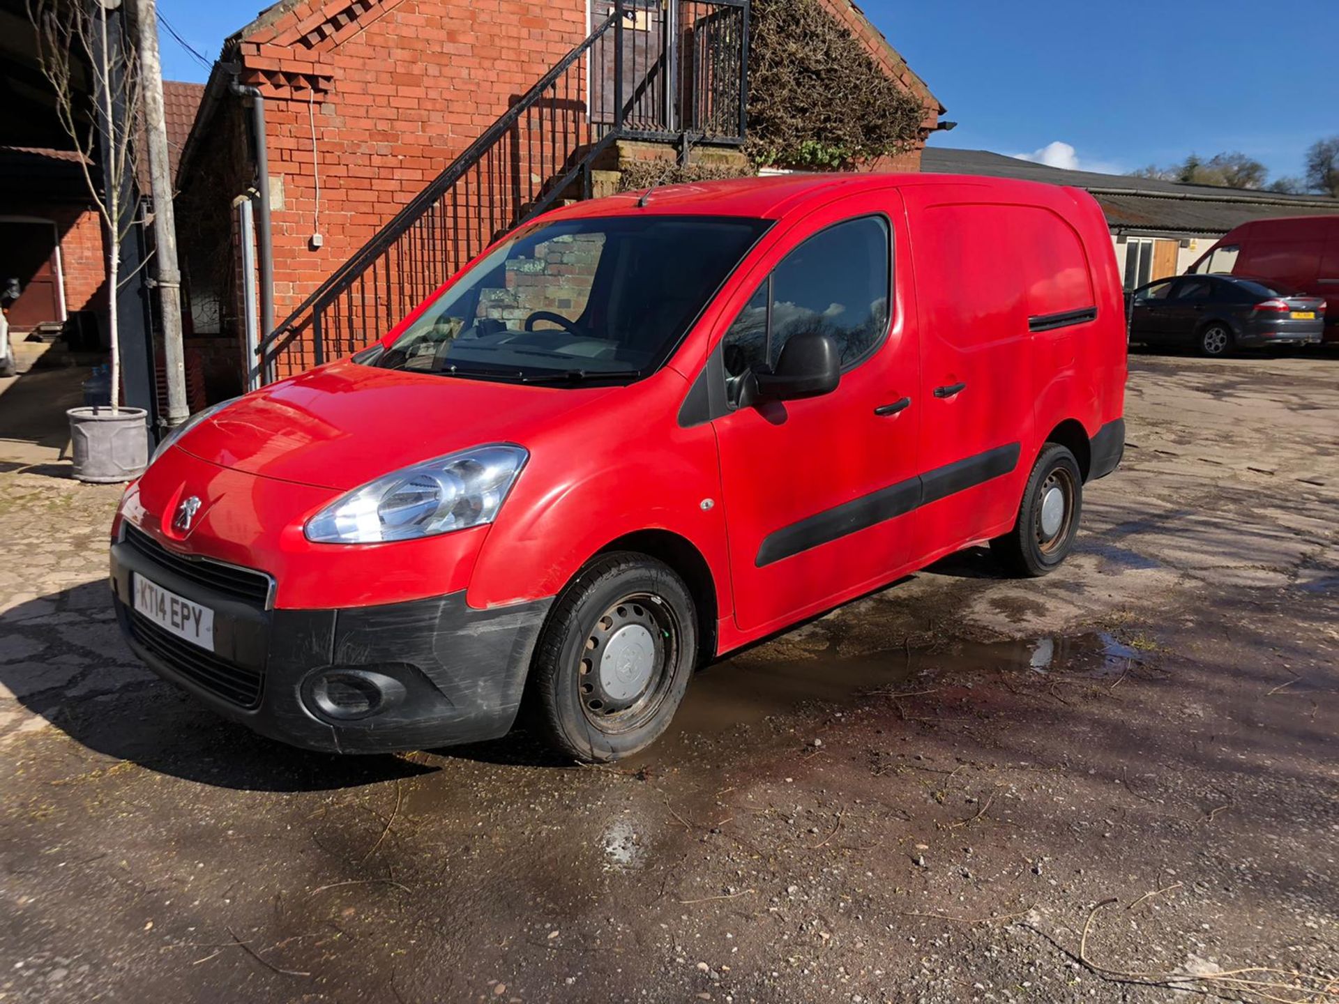
<instances>
[{"instance_id":1,"label":"rear wheel of the red Peugeot van with grey hubcap","mask_svg":"<svg viewBox=\"0 0 1339 1004\"><path fill-rule=\"evenodd\" d=\"M1048 574L1074 549L1082 514L1078 461L1059 443L1047 443L1027 479L1014 529L991 541L991 550L1015 574Z\"/></svg>"}]
</instances>

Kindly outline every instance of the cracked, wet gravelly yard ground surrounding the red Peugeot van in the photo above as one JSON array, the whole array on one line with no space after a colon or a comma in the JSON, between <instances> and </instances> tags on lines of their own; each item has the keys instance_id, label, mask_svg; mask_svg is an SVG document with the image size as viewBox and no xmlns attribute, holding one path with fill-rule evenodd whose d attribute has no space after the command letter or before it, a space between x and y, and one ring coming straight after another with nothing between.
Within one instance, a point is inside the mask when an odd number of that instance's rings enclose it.
<instances>
[{"instance_id":1,"label":"cracked, wet gravelly yard ground surrounding the red Peugeot van","mask_svg":"<svg viewBox=\"0 0 1339 1004\"><path fill-rule=\"evenodd\" d=\"M11 458L0 1001L1335 1004L1339 357L1127 411L1059 572L953 556L605 768L212 716L121 641L119 489Z\"/></svg>"}]
</instances>

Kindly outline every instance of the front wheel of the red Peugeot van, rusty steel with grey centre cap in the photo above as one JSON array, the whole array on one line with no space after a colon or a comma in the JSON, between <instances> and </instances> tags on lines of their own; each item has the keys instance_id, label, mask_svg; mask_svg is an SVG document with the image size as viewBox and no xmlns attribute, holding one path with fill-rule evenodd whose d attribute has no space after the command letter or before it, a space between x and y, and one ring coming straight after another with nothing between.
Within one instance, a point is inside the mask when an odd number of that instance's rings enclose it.
<instances>
[{"instance_id":1,"label":"front wheel of the red Peugeot van, rusty steel with grey centre cap","mask_svg":"<svg viewBox=\"0 0 1339 1004\"><path fill-rule=\"evenodd\" d=\"M541 731L560 752L609 763L653 743L698 660L688 586L655 558L605 554L572 580L536 648Z\"/></svg>"}]
</instances>

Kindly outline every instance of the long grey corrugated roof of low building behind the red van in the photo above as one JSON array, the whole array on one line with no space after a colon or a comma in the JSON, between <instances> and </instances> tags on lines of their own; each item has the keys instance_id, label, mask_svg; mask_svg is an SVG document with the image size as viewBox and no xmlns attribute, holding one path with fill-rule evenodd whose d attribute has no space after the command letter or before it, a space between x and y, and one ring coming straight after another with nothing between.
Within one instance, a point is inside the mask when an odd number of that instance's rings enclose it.
<instances>
[{"instance_id":1,"label":"long grey corrugated roof of low building behind the red van","mask_svg":"<svg viewBox=\"0 0 1339 1004\"><path fill-rule=\"evenodd\" d=\"M1279 191L1182 185L1126 174L1067 171L1020 161L988 150L927 147L921 170L932 174L980 174L1048 185L1070 185L1094 193L1113 229L1158 233L1218 234L1249 220L1339 213L1339 199L1288 195Z\"/></svg>"}]
</instances>

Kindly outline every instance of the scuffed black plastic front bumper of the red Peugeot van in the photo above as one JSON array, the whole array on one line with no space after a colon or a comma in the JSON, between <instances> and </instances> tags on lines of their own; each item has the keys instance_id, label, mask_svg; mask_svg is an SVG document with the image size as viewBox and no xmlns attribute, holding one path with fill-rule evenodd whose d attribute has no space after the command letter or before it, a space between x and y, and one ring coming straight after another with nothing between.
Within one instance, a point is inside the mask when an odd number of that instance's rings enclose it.
<instances>
[{"instance_id":1,"label":"scuffed black plastic front bumper of the red Peugeot van","mask_svg":"<svg viewBox=\"0 0 1339 1004\"><path fill-rule=\"evenodd\" d=\"M134 613L131 573L214 610L214 652ZM112 545L116 620L135 655L224 718L327 752L424 750L506 735L553 602L475 610L459 592L384 606L276 610L195 580L125 541ZM392 681L387 700L367 718L329 718L312 700L312 681L331 669Z\"/></svg>"}]
</instances>

